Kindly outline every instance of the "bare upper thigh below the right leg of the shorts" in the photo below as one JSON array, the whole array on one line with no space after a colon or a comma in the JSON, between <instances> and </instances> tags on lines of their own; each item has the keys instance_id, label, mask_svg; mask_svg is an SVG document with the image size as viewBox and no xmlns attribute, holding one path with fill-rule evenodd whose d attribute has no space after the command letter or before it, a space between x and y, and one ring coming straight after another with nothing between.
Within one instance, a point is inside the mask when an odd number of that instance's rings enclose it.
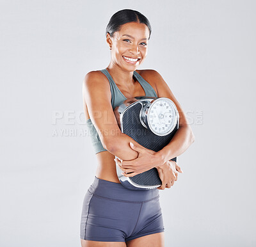
<instances>
[{"instance_id":1,"label":"bare upper thigh below the right leg of the shorts","mask_svg":"<svg viewBox=\"0 0 256 247\"><path fill-rule=\"evenodd\" d=\"M164 232L145 235L126 242L127 247L164 247Z\"/></svg>"}]
</instances>

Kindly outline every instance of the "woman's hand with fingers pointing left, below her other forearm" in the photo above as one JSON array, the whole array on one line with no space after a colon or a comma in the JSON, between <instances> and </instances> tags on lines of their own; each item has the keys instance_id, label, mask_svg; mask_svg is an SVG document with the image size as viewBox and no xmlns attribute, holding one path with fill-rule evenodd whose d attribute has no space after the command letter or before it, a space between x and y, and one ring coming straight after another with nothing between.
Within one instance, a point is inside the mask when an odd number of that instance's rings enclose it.
<instances>
[{"instance_id":1,"label":"woman's hand with fingers pointing left, below her other forearm","mask_svg":"<svg viewBox=\"0 0 256 247\"><path fill-rule=\"evenodd\" d=\"M138 152L136 159L132 159L131 161L124 161L118 157L115 159L116 164L124 171L122 174L125 177L133 177L162 164L161 159L156 155L157 152L131 142L130 147Z\"/></svg>"}]
</instances>

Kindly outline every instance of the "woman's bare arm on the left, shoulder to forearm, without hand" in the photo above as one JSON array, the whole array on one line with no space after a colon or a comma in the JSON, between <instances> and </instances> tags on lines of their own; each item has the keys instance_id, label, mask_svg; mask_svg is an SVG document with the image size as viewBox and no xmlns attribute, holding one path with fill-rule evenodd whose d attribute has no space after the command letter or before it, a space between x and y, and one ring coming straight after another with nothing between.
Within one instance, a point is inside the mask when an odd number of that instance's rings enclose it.
<instances>
[{"instance_id":1,"label":"woman's bare arm on the left, shoulder to forearm, without hand","mask_svg":"<svg viewBox=\"0 0 256 247\"><path fill-rule=\"evenodd\" d=\"M136 159L138 152L132 150L129 142L142 146L120 131L111 106L109 82L104 74L95 71L86 74L83 80L83 101L86 102L103 147L120 159Z\"/></svg>"}]
</instances>

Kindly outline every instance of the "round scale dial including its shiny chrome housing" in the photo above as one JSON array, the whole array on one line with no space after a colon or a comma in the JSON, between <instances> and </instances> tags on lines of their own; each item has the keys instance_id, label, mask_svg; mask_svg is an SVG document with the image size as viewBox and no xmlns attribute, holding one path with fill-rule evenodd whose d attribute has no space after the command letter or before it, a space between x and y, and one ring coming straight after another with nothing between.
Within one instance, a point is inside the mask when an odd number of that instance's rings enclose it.
<instances>
[{"instance_id":1,"label":"round scale dial including its shiny chrome housing","mask_svg":"<svg viewBox=\"0 0 256 247\"><path fill-rule=\"evenodd\" d=\"M179 113L172 100L159 97L145 104L141 112L141 124L157 136L166 136L175 128Z\"/></svg>"}]
</instances>

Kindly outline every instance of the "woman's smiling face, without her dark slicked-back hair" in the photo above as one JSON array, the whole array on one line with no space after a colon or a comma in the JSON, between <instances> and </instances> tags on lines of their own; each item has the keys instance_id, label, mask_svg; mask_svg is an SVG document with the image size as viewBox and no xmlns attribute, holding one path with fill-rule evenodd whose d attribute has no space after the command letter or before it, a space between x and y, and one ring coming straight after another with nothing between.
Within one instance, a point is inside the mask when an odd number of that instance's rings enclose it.
<instances>
[{"instance_id":1,"label":"woman's smiling face, without her dark slicked-back hair","mask_svg":"<svg viewBox=\"0 0 256 247\"><path fill-rule=\"evenodd\" d=\"M111 63L128 71L134 71L147 56L149 30L146 24L128 22L113 37L107 34L111 50Z\"/></svg>"}]
</instances>

